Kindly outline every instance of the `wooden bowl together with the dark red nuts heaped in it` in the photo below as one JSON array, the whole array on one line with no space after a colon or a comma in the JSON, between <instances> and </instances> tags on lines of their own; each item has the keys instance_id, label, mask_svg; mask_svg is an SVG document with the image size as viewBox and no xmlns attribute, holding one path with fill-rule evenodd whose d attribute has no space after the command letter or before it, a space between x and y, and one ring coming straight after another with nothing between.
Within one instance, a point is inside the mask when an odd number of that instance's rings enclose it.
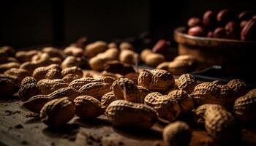
<instances>
[{"instance_id":1,"label":"wooden bowl together with the dark red nuts heaped in it","mask_svg":"<svg viewBox=\"0 0 256 146\"><path fill-rule=\"evenodd\" d=\"M180 55L194 55L206 66L222 66L225 73L251 74L256 58L256 15L231 9L206 11L174 31Z\"/></svg>"}]
</instances>

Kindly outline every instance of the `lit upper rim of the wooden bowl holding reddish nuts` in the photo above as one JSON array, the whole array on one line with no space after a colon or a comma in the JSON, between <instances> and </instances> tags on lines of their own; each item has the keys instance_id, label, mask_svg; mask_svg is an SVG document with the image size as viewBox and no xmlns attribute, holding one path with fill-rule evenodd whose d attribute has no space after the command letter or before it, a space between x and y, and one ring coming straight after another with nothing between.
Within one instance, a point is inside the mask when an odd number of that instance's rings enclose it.
<instances>
[{"instance_id":1,"label":"lit upper rim of the wooden bowl holding reddish nuts","mask_svg":"<svg viewBox=\"0 0 256 146\"><path fill-rule=\"evenodd\" d=\"M192 39L197 42L218 42L218 43L239 43L239 44L255 44L255 41L243 41L243 40L238 40L238 39L219 39L219 38L209 38L209 37L196 37L196 36L191 36L189 34L184 33L187 30L186 26L180 26L174 30L174 39L176 42L179 43L178 38L183 38L183 39ZM207 43L208 44L208 43Z\"/></svg>"}]
</instances>

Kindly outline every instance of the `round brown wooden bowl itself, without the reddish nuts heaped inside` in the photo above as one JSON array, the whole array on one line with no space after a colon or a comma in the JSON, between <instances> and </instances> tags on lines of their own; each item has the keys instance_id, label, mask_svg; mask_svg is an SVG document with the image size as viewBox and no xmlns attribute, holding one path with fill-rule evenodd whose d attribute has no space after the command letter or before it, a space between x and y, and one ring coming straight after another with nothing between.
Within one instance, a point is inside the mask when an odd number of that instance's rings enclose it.
<instances>
[{"instance_id":1,"label":"round brown wooden bowl itself, without the reddish nuts heaped inside","mask_svg":"<svg viewBox=\"0 0 256 146\"><path fill-rule=\"evenodd\" d=\"M219 65L227 74L252 74L256 63L256 42L194 37L186 27L176 28L174 39L179 55L194 55L206 66Z\"/></svg>"}]
</instances>

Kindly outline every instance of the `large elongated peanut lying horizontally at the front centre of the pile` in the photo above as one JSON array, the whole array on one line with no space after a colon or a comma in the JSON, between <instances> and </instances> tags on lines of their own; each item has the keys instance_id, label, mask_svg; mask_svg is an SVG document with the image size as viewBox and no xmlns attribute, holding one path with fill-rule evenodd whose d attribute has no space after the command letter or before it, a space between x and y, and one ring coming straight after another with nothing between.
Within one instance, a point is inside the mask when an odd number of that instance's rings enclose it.
<instances>
[{"instance_id":1,"label":"large elongated peanut lying horizontally at the front centre of the pile","mask_svg":"<svg viewBox=\"0 0 256 146\"><path fill-rule=\"evenodd\" d=\"M157 122L157 111L152 107L126 100L111 102L105 114L114 126L151 128Z\"/></svg>"}]
</instances>

